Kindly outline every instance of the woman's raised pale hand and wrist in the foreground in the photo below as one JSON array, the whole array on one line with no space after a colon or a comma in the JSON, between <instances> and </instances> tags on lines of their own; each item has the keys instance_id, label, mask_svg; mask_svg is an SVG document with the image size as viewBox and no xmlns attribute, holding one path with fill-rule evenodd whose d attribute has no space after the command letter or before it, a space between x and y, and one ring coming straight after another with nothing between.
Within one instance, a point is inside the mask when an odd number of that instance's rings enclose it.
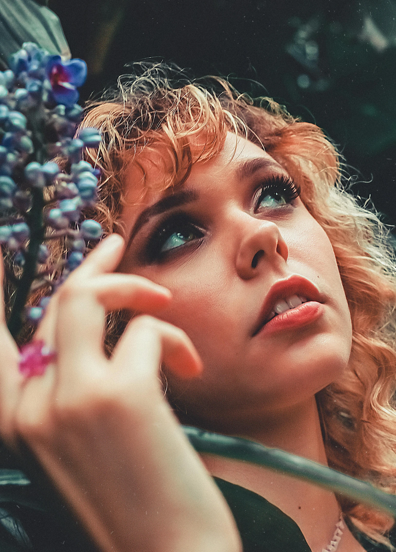
<instances>
[{"instance_id":1,"label":"woman's raised pale hand and wrist in the foreground","mask_svg":"<svg viewBox=\"0 0 396 552\"><path fill-rule=\"evenodd\" d=\"M163 396L164 362L180 378L201 371L179 328L147 313L168 290L112 274L123 253L106 238L51 299L35 339L57 352L43 376L24 379L1 312L0 431L22 438L105 551L237 552L239 535L221 493ZM105 312L145 312L103 353Z\"/></svg>"}]
</instances>

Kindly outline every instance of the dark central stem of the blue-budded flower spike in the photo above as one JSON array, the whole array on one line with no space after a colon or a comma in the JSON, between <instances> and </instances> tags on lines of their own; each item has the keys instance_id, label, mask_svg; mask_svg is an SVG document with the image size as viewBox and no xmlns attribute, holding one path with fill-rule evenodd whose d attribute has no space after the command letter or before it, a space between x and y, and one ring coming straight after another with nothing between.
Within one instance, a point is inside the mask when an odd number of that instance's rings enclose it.
<instances>
[{"instance_id":1,"label":"dark central stem of the blue-budded flower spike","mask_svg":"<svg viewBox=\"0 0 396 552\"><path fill-rule=\"evenodd\" d=\"M39 247L44 238L44 220L42 209L44 208L44 196L42 190L33 188L31 190L33 202L27 215L27 223L30 229L30 241L28 250L25 253L25 264L22 277L19 280L11 315L8 321L8 329L11 335L17 338L23 324L22 315L28 299L30 286L36 277L37 258Z\"/></svg>"}]
</instances>

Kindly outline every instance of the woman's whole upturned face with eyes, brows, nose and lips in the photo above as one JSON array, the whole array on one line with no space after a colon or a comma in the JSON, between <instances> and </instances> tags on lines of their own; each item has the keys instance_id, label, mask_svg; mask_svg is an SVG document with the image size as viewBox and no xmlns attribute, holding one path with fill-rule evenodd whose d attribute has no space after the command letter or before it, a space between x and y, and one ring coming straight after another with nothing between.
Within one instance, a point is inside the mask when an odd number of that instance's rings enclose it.
<instances>
[{"instance_id":1,"label":"woman's whole upturned face with eyes, brows, nose and lips","mask_svg":"<svg viewBox=\"0 0 396 552\"><path fill-rule=\"evenodd\" d=\"M308 400L338 378L351 349L329 238L280 164L248 140L235 145L229 133L223 151L196 163L180 188L153 192L121 217L132 239L120 270L172 291L156 316L182 328L204 363L190 381L165 369L172 400L223 428L236 413L249 418ZM148 173L161 178L154 166ZM140 181L131 169L131 198ZM298 305L296 296L307 303L266 323L285 301Z\"/></svg>"}]
</instances>

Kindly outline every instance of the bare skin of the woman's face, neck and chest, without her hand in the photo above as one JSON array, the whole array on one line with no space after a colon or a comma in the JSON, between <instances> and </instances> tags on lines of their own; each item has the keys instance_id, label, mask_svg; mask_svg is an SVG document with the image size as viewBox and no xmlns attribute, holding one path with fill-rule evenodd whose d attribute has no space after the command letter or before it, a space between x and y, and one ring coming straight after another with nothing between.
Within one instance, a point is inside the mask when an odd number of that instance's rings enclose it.
<instances>
[{"instance_id":1,"label":"bare skin of the woman's face, neck and chest, without her hand","mask_svg":"<svg viewBox=\"0 0 396 552\"><path fill-rule=\"evenodd\" d=\"M238 167L257 159L265 166L240 176ZM135 235L142 210L173 191L150 192L139 204L141 173L132 167L121 223L133 239L119 270L172 292L172 302L156 316L182 328L201 357L202 373L187 381L163 365L180 421L327 464L314 395L346 368L350 313L331 243L302 201L255 209L256 190L281 175L287 176L285 169L266 152L243 138L236 144L229 133L220 155L196 163L183 184L197 199L152 216ZM162 164L151 157L146 184L154 188L161 179ZM174 213L200 232L165 256L147 259L152 236ZM176 224L168 234L180 230ZM318 289L320 316L303 327L253 336L271 286L293 274ZM332 493L257 466L209 455L202 460L212 475L258 492L295 519L312 550L333 536L339 506ZM339 550L363 549L346 530Z\"/></svg>"}]
</instances>

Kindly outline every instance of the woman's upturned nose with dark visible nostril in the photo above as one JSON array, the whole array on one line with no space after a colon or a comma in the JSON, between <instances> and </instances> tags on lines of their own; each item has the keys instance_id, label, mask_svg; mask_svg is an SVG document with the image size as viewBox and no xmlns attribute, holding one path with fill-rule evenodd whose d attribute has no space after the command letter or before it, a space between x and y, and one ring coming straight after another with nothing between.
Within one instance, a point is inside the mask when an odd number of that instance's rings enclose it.
<instances>
[{"instance_id":1,"label":"woman's upturned nose with dark visible nostril","mask_svg":"<svg viewBox=\"0 0 396 552\"><path fill-rule=\"evenodd\" d=\"M244 280L258 275L264 264L286 262L288 257L287 244L274 222L254 219L248 226L244 227L236 260L237 273Z\"/></svg>"}]
</instances>

